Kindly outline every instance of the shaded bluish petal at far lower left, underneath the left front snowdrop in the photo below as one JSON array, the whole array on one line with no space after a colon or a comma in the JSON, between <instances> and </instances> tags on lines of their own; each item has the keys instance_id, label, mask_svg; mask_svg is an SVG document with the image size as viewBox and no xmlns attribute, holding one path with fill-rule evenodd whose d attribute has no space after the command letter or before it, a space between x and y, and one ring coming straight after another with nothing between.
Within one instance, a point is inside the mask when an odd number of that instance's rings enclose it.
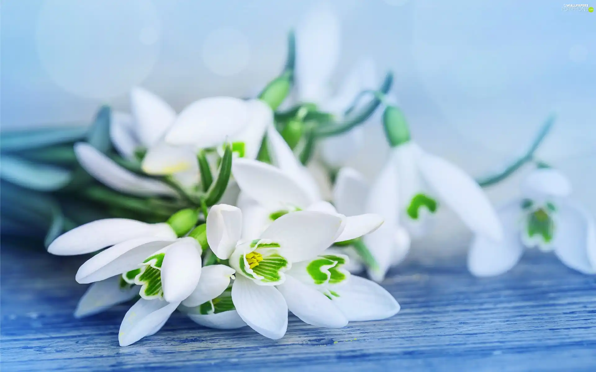
<instances>
[{"instance_id":1,"label":"shaded bluish petal at far lower left, underneath the left front snowdrop","mask_svg":"<svg viewBox=\"0 0 596 372\"><path fill-rule=\"evenodd\" d=\"M139 287L136 286L120 289L119 275L93 283L80 298L75 318L98 314L114 305L129 301L138 294Z\"/></svg>"}]
</instances>

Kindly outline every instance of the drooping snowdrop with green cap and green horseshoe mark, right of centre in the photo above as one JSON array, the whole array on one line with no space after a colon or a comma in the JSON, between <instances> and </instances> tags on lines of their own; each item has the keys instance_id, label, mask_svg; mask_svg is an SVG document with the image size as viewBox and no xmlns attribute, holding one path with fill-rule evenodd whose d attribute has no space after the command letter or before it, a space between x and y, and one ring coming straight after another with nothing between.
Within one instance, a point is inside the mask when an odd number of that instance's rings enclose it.
<instances>
[{"instance_id":1,"label":"drooping snowdrop with green cap and green horseshoe mark, right of centre","mask_svg":"<svg viewBox=\"0 0 596 372\"><path fill-rule=\"evenodd\" d=\"M399 221L409 233L421 235L427 218L436 213L440 202L451 208L474 233L497 241L502 239L499 218L474 179L457 165L421 149L410 138L408 124L398 108L387 106L383 124L392 151L375 182L376 190L370 202L385 210L377 213L386 218L386 223L396 226ZM391 211L392 208L396 211ZM389 217L391 214L394 216ZM376 254L378 262L399 262L391 258L389 251ZM400 256L405 257L405 252Z\"/></svg>"}]
</instances>

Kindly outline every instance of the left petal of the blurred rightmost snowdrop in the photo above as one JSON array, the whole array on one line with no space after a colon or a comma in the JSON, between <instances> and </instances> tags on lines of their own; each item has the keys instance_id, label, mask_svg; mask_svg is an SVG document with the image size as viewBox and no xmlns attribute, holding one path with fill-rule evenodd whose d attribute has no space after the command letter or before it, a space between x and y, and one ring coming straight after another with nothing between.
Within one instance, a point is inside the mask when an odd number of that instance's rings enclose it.
<instances>
[{"instance_id":1,"label":"left petal of the blurred rightmost snowdrop","mask_svg":"<svg viewBox=\"0 0 596 372\"><path fill-rule=\"evenodd\" d=\"M495 276L513 268L523 254L519 220L521 201L515 201L498 210L504 238L495 241L491 237L476 234L468 252L468 270L479 277Z\"/></svg>"}]
</instances>

